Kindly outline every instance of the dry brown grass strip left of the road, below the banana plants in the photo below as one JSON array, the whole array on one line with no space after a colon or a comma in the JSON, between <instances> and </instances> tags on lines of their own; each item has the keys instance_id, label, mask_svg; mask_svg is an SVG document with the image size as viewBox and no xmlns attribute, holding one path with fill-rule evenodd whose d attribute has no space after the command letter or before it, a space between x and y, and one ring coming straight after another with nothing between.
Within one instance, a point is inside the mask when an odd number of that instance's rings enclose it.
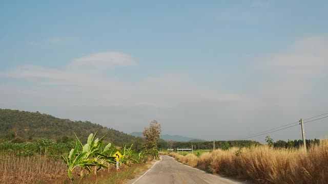
<instances>
[{"instance_id":1,"label":"dry brown grass strip left of the road, below the banana plants","mask_svg":"<svg viewBox=\"0 0 328 184\"><path fill-rule=\"evenodd\" d=\"M0 183L124 183L138 173L148 170L156 160L152 157L144 164L121 166L116 172L115 166L101 169L97 175L87 175L80 179L79 169L74 170L73 181L67 176L67 166L63 160L47 156L13 156L0 153Z\"/></svg>"}]
</instances>

